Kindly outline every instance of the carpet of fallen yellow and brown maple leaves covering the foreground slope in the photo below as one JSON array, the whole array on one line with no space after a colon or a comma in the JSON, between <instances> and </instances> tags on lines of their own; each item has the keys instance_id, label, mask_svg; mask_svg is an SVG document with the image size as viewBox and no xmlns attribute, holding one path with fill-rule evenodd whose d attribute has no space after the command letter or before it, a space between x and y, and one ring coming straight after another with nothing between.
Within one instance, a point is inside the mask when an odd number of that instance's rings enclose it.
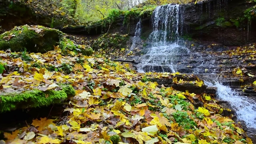
<instances>
[{"instance_id":1,"label":"carpet of fallen yellow and brown maple leaves covering the foreground slope","mask_svg":"<svg viewBox=\"0 0 256 144\"><path fill-rule=\"evenodd\" d=\"M59 85L69 84L76 95L64 109L69 112L65 121L35 119L27 127L5 132L7 144L252 144L240 124L220 115L224 108L212 95L151 82L169 79L177 85L203 86L198 78L185 80L194 75L137 73L130 64L112 62L101 53L64 55L58 46L44 54L27 54L31 61L20 56L20 52L0 52L6 68L0 81L2 94L58 90ZM203 106L195 107L195 99Z\"/></svg>"}]
</instances>

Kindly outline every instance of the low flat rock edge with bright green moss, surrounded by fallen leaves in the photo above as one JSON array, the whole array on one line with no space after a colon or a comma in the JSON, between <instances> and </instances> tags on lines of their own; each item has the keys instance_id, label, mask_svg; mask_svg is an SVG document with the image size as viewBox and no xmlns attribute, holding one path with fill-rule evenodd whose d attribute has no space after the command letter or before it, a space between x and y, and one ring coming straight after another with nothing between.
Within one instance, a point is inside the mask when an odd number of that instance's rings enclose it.
<instances>
[{"instance_id":1,"label":"low flat rock edge with bright green moss, surrounded by fallen leaves","mask_svg":"<svg viewBox=\"0 0 256 144\"><path fill-rule=\"evenodd\" d=\"M22 93L2 93L0 95L0 113L20 108L36 108L60 104L75 95L71 85L62 86L62 90L26 91Z\"/></svg>"}]
</instances>

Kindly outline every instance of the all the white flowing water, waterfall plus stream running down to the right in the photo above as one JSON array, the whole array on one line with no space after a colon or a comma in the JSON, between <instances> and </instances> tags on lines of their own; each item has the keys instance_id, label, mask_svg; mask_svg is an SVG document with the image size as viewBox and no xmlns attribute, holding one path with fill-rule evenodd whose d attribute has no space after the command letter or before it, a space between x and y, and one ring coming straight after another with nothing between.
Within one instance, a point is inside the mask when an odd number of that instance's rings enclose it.
<instances>
[{"instance_id":1,"label":"all the white flowing water, waterfall plus stream running down to the right","mask_svg":"<svg viewBox=\"0 0 256 144\"><path fill-rule=\"evenodd\" d=\"M184 12L183 12L184 13ZM191 59L190 49L183 44L181 10L177 4L168 4L158 6L152 15L153 32L148 37L148 46L144 49L144 55L140 56L140 63L136 65L138 72L181 72L184 68L181 63L184 59ZM136 34L141 33L141 21L137 24ZM138 35L140 36L140 35ZM139 39L135 35L136 41ZM133 44L133 48L134 48ZM182 71L183 73L191 73L207 75L203 73L206 69L210 74L215 74L215 61L209 59L204 61L203 56L198 54L197 61L201 60L201 64L193 67L190 72ZM206 56L210 58L211 56ZM181 68L183 67L183 68ZM208 73L209 74L209 73ZM246 96L240 95L227 85L222 85L217 79L208 76L208 80L204 83L208 86L217 88L217 99L227 101L230 107L235 110L237 121L243 121L248 128L247 134L256 143L256 102Z\"/></svg>"}]
</instances>

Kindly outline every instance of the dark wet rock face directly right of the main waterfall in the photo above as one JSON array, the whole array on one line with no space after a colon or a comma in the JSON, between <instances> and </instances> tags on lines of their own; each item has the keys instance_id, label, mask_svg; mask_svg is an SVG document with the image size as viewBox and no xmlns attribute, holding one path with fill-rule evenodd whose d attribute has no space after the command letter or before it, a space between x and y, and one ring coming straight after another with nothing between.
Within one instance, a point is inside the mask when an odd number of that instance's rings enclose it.
<instances>
[{"instance_id":1,"label":"dark wet rock face directly right of the main waterfall","mask_svg":"<svg viewBox=\"0 0 256 144\"><path fill-rule=\"evenodd\" d=\"M223 45L239 46L256 39L255 22L247 33L247 19L244 11L253 7L247 0L208 0L202 4L181 5L181 23L184 34L193 39L215 41ZM241 22L238 20L242 20ZM246 37L246 39L245 39Z\"/></svg>"}]
</instances>

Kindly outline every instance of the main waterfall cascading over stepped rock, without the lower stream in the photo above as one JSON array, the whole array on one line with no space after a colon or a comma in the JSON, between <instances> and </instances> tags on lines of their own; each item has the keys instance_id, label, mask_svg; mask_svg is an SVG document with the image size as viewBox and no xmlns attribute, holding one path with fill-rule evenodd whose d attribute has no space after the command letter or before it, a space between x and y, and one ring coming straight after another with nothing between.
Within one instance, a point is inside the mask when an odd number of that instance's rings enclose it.
<instances>
[{"instance_id":1,"label":"main waterfall cascading over stepped rock, without the lower stream","mask_svg":"<svg viewBox=\"0 0 256 144\"><path fill-rule=\"evenodd\" d=\"M179 5L158 6L153 13L153 32L148 38L149 45L137 65L139 72L175 72L178 56L188 53L181 46Z\"/></svg>"}]
</instances>

